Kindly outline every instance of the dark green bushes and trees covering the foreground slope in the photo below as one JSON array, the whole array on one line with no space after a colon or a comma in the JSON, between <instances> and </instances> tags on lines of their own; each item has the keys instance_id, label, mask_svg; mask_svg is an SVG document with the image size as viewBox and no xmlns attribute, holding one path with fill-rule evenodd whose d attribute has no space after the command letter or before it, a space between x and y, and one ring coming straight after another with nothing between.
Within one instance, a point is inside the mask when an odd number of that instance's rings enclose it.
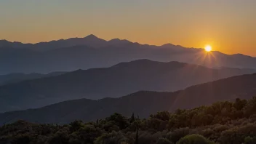
<instances>
[{"instance_id":1,"label":"dark green bushes and trees covering the foreground slope","mask_svg":"<svg viewBox=\"0 0 256 144\"><path fill-rule=\"evenodd\" d=\"M256 97L174 113L161 111L148 119L114 113L97 121L65 125L17 121L0 127L0 143L253 144Z\"/></svg>"}]
</instances>

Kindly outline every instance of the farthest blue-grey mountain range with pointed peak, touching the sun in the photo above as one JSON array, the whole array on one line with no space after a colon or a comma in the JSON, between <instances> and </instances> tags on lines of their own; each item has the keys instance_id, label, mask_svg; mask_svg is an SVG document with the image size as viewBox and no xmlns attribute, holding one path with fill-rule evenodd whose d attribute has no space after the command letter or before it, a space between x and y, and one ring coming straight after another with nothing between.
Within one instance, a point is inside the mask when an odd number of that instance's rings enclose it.
<instances>
[{"instance_id":1,"label":"farthest blue-grey mountain range with pointed peak, touching the sun","mask_svg":"<svg viewBox=\"0 0 256 144\"><path fill-rule=\"evenodd\" d=\"M180 61L207 67L256 68L256 58L246 55L207 53L204 49L174 44L153 46L121 39L105 41L94 35L37 44L0 41L0 74L75 71L140 59Z\"/></svg>"}]
</instances>

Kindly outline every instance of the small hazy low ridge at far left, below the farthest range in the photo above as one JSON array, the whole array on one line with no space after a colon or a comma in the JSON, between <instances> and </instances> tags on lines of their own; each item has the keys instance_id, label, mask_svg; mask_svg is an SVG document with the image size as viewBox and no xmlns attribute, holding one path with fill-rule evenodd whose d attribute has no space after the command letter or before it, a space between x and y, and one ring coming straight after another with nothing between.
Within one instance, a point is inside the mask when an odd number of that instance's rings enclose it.
<instances>
[{"instance_id":1,"label":"small hazy low ridge at far left, below the farthest range","mask_svg":"<svg viewBox=\"0 0 256 144\"><path fill-rule=\"evenodd\" d=\"M66 72L52 72L48 74L42 74L42 73L10 73L7 75L0 75L0 86L4 84L12 84L12 83L17 83L20 81L25 81L29 79L39 79L39 78L44 78L44 77L49 77L49 76L58 76Z\"/></svg>"}]
</instances>

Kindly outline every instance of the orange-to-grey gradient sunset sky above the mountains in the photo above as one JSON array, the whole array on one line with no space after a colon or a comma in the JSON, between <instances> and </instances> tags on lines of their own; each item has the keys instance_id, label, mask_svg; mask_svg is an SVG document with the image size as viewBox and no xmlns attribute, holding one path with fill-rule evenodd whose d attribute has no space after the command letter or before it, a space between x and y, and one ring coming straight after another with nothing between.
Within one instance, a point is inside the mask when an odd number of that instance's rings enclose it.
<instances>
[{"instance_id":1,"label":"orange-to-grey gradient sunset sky above the mountains","mask_svg":"<svg viewBox=\"0 0 256 144\"><path fill-rule=\"evenodd\" d=\"M256 56L256 1L0 0L0 39L36 43L91 33Z\"/></svg>"}]
</instances>

